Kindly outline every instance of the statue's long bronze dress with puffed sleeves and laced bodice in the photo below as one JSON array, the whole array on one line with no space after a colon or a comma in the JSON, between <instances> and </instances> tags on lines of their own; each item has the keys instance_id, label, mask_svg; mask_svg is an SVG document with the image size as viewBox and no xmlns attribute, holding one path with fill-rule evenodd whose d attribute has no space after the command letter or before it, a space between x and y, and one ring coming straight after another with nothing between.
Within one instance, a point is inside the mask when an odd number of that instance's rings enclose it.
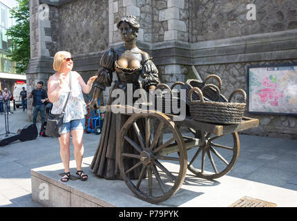
<instances>
[{"instance_id":1,"label":"statue's long bronze dress with puffed sleeves and laced bodice","mask_svg":"<svg viewBox=\"0 0 297 221\"><path fill-rule=\"evenodd\" d=\"M134 68L122 68L118 64L117 61L121 57L125 57L125 55L127 55L127 53L124 51L124 48L119 48L116 50L111 48L109 50L106 50L106 52L104 52L104 55L102 56L102 59L100 61L101 67L98 71L98 77L93 85L102 90L105 90L106 86L111 86L111 76L113 71L117 73L117 80L115 80L110 91L107 105L111 105L113 101L117 99L117 97L111 97L111 93L113 92L113 90L118 88L122 89L125 92L125 100L127 104L127 84L131 84L130 86L133 86L133 92L139 88L144 88L144 90L148 92L148 88L150 86L157 86L157 84L160 84L160 80L157 75L157 68L151 61L151 58L148 57L148 54L146 52L142 52L141 50L139 50L139 52L132 53L135 55L135 61L140 64L139 66ZM143 79L142 82L140 82L140 76ZM137 97L133 97L133 104L137 99ZM97 150L95 151L93 161L90 164L90 169L92 169L95 175L110 180L122 180L116 159L116 143L117 135L119 135L119 131L121 130L128 117L128 115L120 113L105 113L102 135ZM144 122L137 122L137 124L140 128L140 131L144 131ZM137 144L139 144L137 135L132 129L128 131L128 137L133 138L133 140ZM127 142L124 145L124 148L128 153L137 153L130 144L127 144ZM124 167L131 168L137 162L139 162L139 160L127 158L127 160L124 160ZM138 179L140 169L141 166L128 173L127 176L131 179Z\"/></svg>"}]
</instances>

